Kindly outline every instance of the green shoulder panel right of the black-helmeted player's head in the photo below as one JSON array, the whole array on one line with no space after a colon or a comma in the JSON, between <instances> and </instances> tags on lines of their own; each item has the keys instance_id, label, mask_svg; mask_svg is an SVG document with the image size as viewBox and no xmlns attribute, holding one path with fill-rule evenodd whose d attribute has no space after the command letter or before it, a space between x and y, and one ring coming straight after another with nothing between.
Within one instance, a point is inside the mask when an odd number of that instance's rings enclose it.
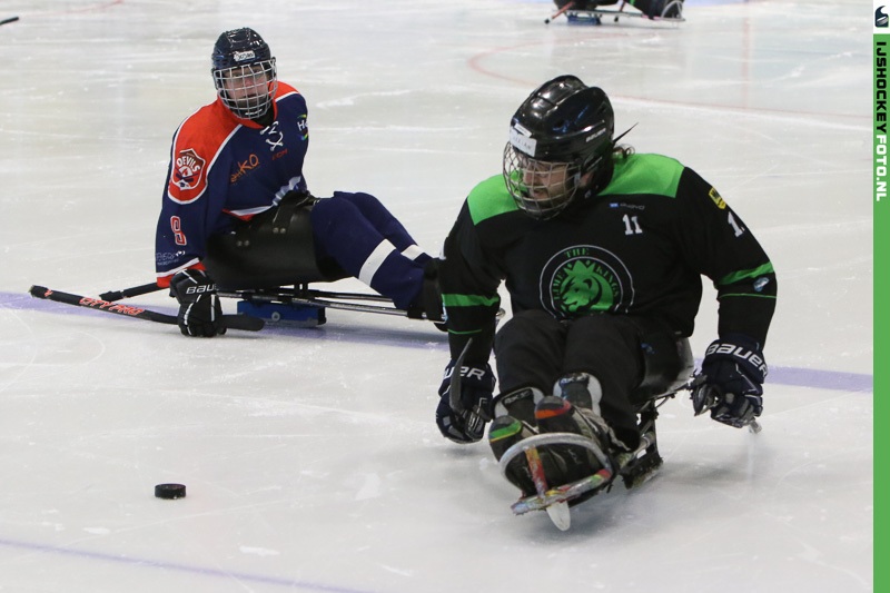
<instances>
[{"instance_id":1,"label":"green shoulder panel right of the black-helmeted player's head","mask_svg":"<svg viewBox=\"0 0 890 593\"><path fill-rule=\"evenodd\" d=\"M600 196L654 194L676 197L683 165L662 155L631 155L615 159L612 181Z\"/></svg>"}]
</instances>

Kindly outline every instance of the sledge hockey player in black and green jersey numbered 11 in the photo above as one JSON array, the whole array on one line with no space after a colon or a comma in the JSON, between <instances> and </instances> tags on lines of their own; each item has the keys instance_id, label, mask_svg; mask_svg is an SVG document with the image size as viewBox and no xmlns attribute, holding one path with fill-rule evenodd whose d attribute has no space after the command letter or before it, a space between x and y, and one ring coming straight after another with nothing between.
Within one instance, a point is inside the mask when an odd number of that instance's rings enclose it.
<instances>
[{"instance_id":1,"label":"sledge hockey player in black and green jersey numbered 11","mask_svg":"<svg viewBox=\"0 0 890 593\"><path fill-rule=\"evenodd\" d=\"M770 259L695 171L620 138L603 90L574 76L544 83L513 116L502 175L469 192L438 264L452 354L442 434L473 443L493 419L498 459L530 437L575 435L538 447L535 463L510 461L523 496L541 477L553 487L609 466L613 478L650 445L637 412L690 378L702 276L718 290L719 336L693 382L694 412L743 427L762 411ZM495 334L502 280L513 316Z\"/></svg>"}]
</instances>

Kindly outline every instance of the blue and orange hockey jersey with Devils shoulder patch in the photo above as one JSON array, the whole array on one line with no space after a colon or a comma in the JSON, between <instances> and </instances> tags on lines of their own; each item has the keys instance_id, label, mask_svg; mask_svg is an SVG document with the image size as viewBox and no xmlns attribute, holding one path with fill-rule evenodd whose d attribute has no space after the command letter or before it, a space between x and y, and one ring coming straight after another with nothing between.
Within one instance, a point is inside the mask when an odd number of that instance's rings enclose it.
<instances>
[{"instance_id":1,"label":"blue and orange hockey jersey with Devils shoulder patch","mask_svg":"<svg viewBox=\"0 0 890 593\"><path fill-rule=\"evenodd\" d=\"M306 100L278 82L275 120L265 128L235 117L217 100L177 128L155 238L158 285L186 268L201 268L208 237L230 230L306 189L309 146Z\"/></svg>"}]
</instances>

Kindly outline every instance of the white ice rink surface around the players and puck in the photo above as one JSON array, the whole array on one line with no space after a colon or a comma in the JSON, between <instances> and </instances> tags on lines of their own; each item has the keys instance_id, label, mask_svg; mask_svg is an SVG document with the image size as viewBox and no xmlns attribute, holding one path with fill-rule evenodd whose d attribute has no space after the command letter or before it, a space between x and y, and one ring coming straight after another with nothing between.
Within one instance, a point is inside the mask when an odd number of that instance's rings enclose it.
<instances>
[{"instance_id":1,"label":"white ice rink surface around the players and puck","mask_svg":"<svg viewBox=\"0 0 890 593\"><path fill-rule=\"evenodd\" d=\"M0 591L871 590L871 12L686 4L679 28L592 28L542 1L0 0L21 17L0 27ZM626 140L701 172L773 259L763 432L670 402L662 473L563 533L512 516L485 444L439 437L423 323L197 340L29 298L151 280L171 134L241 26L308 98L312 189L377 195L434 253L535 86L602 86ZM696 354L714 317L709 291Z\"/></svg>"}]
</instances>

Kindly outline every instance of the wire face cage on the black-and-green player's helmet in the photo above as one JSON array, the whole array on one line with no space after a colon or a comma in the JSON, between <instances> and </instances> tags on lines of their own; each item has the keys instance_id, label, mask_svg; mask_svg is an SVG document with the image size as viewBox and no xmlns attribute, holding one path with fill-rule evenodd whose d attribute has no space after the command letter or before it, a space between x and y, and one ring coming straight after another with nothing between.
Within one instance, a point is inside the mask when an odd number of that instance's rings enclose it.
<instances>
[{"instance_id":1,"label":"wire face cage on the black-and-green player's helmet","mask_svg":"<svg viewBox=\"0 0 890 593\"><path fill-rule=\"evenodd\" d=\"M507 191L525 214L538 220L563 211L577 194L582 170L575 162L553 162L532 158L504 147L504 180Z\"/></svg>"}]
</instances>

